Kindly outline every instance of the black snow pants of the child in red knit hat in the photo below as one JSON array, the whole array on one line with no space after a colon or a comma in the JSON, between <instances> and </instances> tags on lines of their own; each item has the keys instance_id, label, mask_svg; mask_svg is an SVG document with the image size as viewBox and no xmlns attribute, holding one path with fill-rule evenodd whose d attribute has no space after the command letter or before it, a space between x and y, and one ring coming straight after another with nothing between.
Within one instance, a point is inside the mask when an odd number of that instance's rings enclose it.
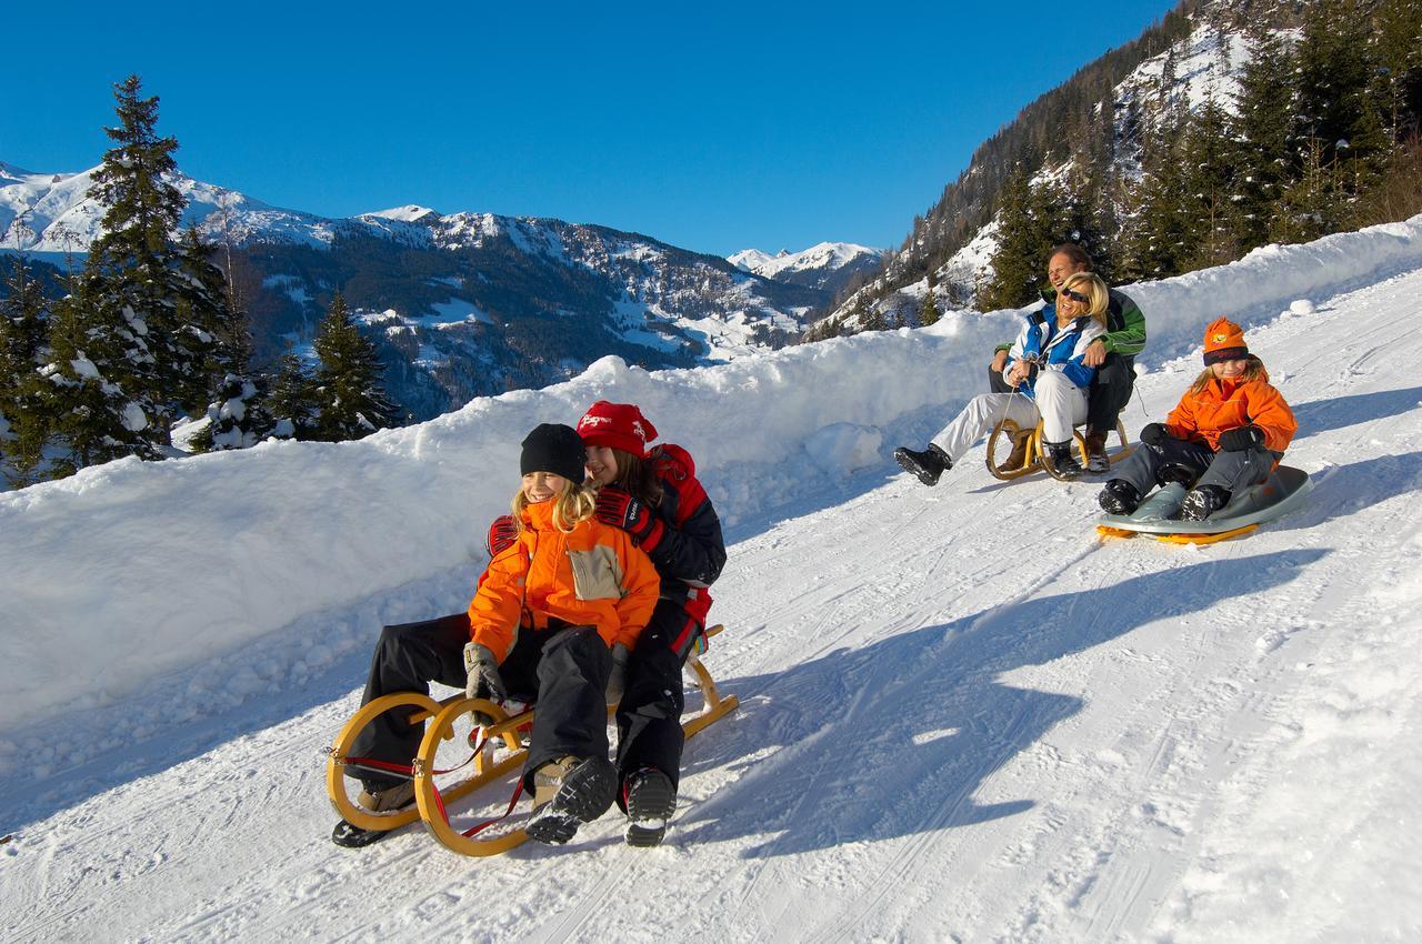
<instances>
[{"instance_id":1,"label":"black snow pants of the child in red knit hat","mask_svg":"<svg viewBox=\"0 0 1422 944\"><path fill-rule=\"evenodd\" d=\"M681 668L704 627L675 600L658 600L627 664L627 688L617 705L617 775L653 766L673 789L681 782ZM617 803L621 805L621 790Z\"/></svg>"}]
</instances>

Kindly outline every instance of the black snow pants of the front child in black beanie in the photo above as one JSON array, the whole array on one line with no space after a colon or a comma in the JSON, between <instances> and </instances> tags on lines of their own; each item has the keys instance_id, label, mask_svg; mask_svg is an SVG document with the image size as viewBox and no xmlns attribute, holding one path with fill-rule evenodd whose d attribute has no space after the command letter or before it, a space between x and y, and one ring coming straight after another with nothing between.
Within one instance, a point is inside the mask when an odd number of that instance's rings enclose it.
<instances>
[{"instance_id":1,"label":"black snow pants of the front child in black beanie","mask_svg":"<svg viewBox=\"0 0 1422 944\"><path fill-rule=\"evenodd\" d=\"M370 663L370 678L361 704L397 691L429 692L437 681L464 688L464 647L469 643L469 617L464 613L387 626ZM536 702L538 715L525 783L532 788L533 771L549 761L607 756L607 675L611 655L593 627L552 621L547 630L522 627L499 675L510 697ZM387 711L361 731L351 746L353 756L390 763L410 763L424 736L422 725L411 725ZM392 786L394 778L363 773L370 789Z\"/></svg>"}]
</instances>

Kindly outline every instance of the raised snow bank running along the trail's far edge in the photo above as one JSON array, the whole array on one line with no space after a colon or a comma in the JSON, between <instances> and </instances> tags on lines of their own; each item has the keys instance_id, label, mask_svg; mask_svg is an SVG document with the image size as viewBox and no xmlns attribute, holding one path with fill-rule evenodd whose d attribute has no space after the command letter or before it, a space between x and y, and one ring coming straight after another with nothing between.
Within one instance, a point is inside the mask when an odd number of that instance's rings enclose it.
<instances>
[{"instance_id":1,"label":"raised snow bank running along the trail's far edge","mask_svg":"<svg viewBox=\"0 0 1422 944\"><path fill-rule=\"evenodd\" d=\"M1129 286L1150 327L1142 363L1189 353L1220 314L1258 326L1295 300L1419 266L1422 216ZM459 567L472 586L485 526L518 483L519 441L593 399L637 402L687 446L731 526L830 488L875 451L887 466L899 438L983 388L987 354L1018 317L948 313L931 328L685 371L609 357L569 382L361 442L125 459L0 495L0 735L77 694L107 704L371 594Z\"/></svg>"}]
</instances>

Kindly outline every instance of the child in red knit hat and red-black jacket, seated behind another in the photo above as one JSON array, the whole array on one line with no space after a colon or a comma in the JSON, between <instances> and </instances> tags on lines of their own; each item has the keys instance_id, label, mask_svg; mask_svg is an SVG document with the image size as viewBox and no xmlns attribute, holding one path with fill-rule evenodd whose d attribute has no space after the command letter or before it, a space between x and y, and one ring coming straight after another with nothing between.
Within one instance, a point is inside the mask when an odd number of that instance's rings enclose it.
<instances>
[{"instance_id":1,"label":"child in red knit hat and red-black jacket, seated behind another","mask_svg":"<svg viewBox=\"0 0 1422 944\"><path fill-rule=\"evenodd\" d=\"M633 651L613 650L607 701L617 702L617 802L627 843L656 846L677 806L684 708L681 668L705 630L710 584L725 566L721 519L681 446L660 444L641 409L600 399L577 422L596 483L596 516L651 559L661 596ZM498 553L503 519L489 530Z\"/></svg>"}]
</instances>

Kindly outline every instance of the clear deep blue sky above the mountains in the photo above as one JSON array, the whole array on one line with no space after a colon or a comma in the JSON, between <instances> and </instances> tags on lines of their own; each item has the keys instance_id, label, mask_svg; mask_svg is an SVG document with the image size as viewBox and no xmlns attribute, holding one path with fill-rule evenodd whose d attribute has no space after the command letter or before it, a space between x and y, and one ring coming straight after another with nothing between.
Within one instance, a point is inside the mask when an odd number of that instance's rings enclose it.
<instances>
[{"instance_id":1,"label":"clear deep blue sky above the mountains","mask_svg":"<svg viewBox=\"0 0 1422 944\"><path fill-rule=\"evenodd\" d=\"M1172 6L10 4L0 161L94 166L138 73L185 173L276 206L890 246L984 138Z\"/></svg>"}]
</instances>

